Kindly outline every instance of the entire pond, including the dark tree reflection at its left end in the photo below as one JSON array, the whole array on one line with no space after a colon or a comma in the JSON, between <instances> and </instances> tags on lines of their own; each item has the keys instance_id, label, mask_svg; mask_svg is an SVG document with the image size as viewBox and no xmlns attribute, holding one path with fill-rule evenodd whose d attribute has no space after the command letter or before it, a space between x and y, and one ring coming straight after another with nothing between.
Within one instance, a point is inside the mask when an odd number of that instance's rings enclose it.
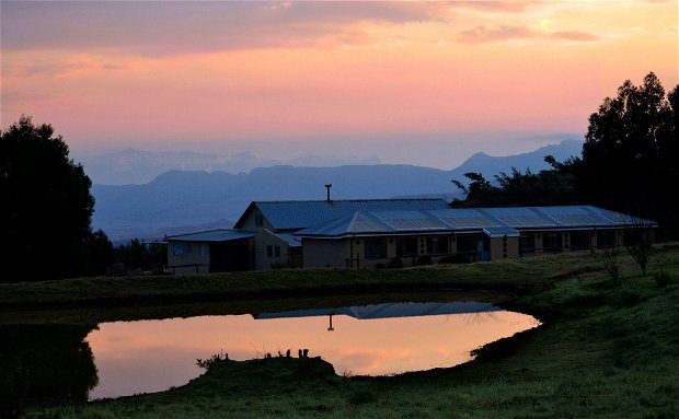
<instances>
[{"instance_id":1,"label":"entire pond, including the dark tree reflection at its left end","mask_svg":"<svg viewBox=\"0 0 679 419\"><path fill-rule=\"evenodd\" d=\"M24 375L5 374L0 386L30 382L33 399L119 397L184 385L204 372L197 359L216 353L248 360L288 350L298 357L303 349L337 374L389 375L467 362L470 351L539 324L492 303L465 301L10 325L0 327L7 337L0 369Z\"/></svg>"}]
</instances>

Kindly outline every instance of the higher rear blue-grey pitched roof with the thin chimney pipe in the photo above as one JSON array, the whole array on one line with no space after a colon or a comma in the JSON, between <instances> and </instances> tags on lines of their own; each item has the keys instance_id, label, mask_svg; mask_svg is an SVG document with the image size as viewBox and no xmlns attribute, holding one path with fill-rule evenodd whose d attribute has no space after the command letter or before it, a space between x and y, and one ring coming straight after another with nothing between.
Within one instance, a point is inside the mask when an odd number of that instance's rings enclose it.
<instances>
[{"instance_id":1,"label":"higher rear blue-grey pitched roof with the thin chimney pipe","mask_svg":"<svg viewBox=\"0 0 679 419\"><path fill-rule=\"evenodd\" d=\"M262 211L274 229L298 230L327 223L357 211L412 211L449 207L441 198L253 201L234 228L240 228L254 208Z\"/></svg>"}]
</instances>

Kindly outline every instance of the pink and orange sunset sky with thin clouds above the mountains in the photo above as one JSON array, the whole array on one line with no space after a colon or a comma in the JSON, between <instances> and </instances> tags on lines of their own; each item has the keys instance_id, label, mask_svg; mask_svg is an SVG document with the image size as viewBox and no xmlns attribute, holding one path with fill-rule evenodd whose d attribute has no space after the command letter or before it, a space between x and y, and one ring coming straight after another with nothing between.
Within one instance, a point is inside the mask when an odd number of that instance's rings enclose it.
<instances>
[{"instance_id":1,"label":"pink and orange sunset sky with thin clouds above the mountains","mask_svg":"<svg viewBox=\"0 0 679 419\"><path fill-rule=\"evenodd\" d=\"M452 168L582 139L678 80L676 0L0 1L1 124L72 153L378 155Z\"/></svg>"}]
</instances>

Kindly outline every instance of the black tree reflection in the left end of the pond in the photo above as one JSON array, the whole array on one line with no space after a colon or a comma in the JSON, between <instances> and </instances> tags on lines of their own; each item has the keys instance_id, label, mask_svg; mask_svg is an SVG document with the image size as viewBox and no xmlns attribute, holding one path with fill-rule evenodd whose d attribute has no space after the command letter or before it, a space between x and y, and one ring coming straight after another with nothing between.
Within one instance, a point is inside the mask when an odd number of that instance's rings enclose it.
<instances>
[{"instance_id":1,"label":"black tree reflection in the left end of the pond","mask_svg":"<svg viewBox=\"0 0 679 419\"><path fill-rule=\"evenodd\" d=\"M99 383L92 348L84 338L96 326L0 326L0 406L84 403Z\"/></svg>"}]
</instances>

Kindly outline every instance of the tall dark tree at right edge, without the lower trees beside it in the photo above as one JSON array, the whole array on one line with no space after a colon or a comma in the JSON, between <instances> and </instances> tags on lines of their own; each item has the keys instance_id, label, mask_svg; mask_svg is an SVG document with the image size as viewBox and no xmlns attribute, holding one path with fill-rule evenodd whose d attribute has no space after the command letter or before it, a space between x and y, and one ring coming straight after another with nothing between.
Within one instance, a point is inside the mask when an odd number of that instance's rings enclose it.
<instances>
[{"instance_id":1,"label":"tall dark tree at right edge, without the lower trees beside it","mask_svg":"<svg viewBox=\"0 0 679 419\"><path fill-rule=\"evenodd\" d=\"M679 88L679 86L678 86ZM677 235L679 93L667 97L648 73L640 86L625 81L589 117L578 194L584 202L652 218Z\"/></svg>"}]
</instances>

